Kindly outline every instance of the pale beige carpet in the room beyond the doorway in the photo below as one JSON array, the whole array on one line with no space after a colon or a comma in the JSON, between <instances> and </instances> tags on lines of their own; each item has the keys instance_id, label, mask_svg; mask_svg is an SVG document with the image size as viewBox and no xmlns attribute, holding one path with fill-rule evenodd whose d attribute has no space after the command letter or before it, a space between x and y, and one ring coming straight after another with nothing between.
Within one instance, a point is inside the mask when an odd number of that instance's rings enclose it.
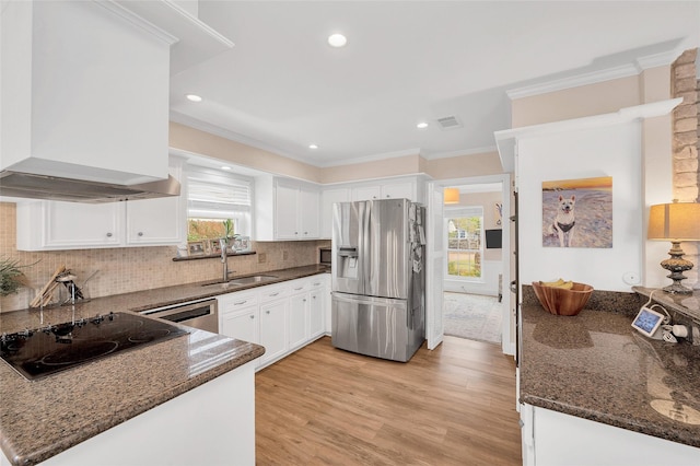
<instances>
[{"instance_id":1,"label":"pale beige carpet in the room beyond the doorway","mask_svg":"<svg viewBox=\"0 0 700 466\"><path fill-rule=\"evenodd\" d=\"M502 321L501 303L495 296L443 294L445 335L500 345Z\"/></svg>"}]
</instances>

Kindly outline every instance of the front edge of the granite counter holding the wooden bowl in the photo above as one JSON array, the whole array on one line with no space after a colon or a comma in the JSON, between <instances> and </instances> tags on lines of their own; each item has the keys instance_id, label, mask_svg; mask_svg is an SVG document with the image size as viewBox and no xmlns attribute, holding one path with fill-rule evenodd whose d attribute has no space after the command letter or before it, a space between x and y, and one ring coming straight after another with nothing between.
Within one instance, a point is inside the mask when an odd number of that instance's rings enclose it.
<instances>
[{"instance_id":1,"label":"front edge of the granite counter holding the wooden bowl","mask_svg":"<svg viewBox=\"0 0 700 466\"><path fill-rule=\"evenodd\" d=\"M575 418L587 419L590 421L599 422L602 424L643 433L645 435L655 436L662 440L667 440L669 442L700 447L700 438L697 438L695 435L684 435L682 432L678 430L668 431L666 429L657 428L653 424L641 424L639 422L633 422L630 418L610 416L605 412L585 409L579 406L552 401L550 399L541 398L536 395L523 394L521 395L521 403L536 406L538 408L549 409L551 411L561 412L563 415L573 416Z\"/></svg>"}]
</instances>

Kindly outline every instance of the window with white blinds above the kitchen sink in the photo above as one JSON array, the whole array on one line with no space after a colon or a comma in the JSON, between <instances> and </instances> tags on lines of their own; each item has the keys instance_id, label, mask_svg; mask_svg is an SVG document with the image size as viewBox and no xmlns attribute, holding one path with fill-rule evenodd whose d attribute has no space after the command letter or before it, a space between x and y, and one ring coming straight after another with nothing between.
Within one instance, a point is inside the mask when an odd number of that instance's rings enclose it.
<instances>
[{"instance_id":1,"label":"window with white blinds above the kitchen sink","mask_svg":"<svg viewBox=\"0 0 700 466\"><path fill-rule=\"evenodd\" d=\"M250 234L253 180L206 168L187 173L187 241Z\"/></svg>"}]
</instances>

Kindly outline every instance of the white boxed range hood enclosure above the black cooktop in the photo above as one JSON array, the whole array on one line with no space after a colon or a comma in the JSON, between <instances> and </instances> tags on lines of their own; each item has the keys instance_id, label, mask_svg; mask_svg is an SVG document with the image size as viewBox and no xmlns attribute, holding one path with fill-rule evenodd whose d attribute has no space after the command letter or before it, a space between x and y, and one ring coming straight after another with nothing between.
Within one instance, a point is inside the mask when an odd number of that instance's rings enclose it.
<instances>
[{"instance_id":1,"label":"white boxed range hood enclosure above the black cooktop","mask_svg":"<svg viewBox=\"0 0 700 466\"><path fill-rule=\"evenodd\" d=\"M97 1L3 2L0 170L167 177L174 37Z\"/></svg>"}]
</instances>

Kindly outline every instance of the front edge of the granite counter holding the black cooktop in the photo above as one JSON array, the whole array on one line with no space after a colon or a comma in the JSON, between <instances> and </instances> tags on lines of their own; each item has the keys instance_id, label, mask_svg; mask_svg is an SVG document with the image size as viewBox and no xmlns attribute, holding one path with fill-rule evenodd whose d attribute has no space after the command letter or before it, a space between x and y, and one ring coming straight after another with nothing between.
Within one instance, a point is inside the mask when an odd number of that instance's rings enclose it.
<instances>
[{"instance_id":1,"label":"front edge of the granite counter holding the black cooktop","mask_svg":"<svg viewBox=\"0 0 700 466\"><path fill-rule=\"evenodd\" d=\"M241 340L238 340L241 341ZM7 438L0 438L0 444L2 446L2 451L10 459L10 463L18 466L26 466L26 465L35 465L44 462L48 458L51 458L59 453L65 452L68 448L71 448L86 440L92 439L107 430L121 424L122 422L128 421L131 418L136 418L139 415L144 413L160 405L163 405L170 401L173 398L176 398L179 395L183 395L194 388L197 388L200 385L210 382L220 375L223 375L228 372L231 372L235 369L241 368L242 365L247 364L248 362L261 357L265 354L265 347L256 343L245 342L245 346L249 347L248 351L241 353L237 358L231 359L212 368L206 372L197 374L196 376L187 380L184 383L180 383L176 386L171 387L166 392L163 392L159 396L151 396L150 398L140 399L138 405L131 405L131 410L129 412L122 412L120 416L105 416L104 421L93 422L89 428L73 431L72 434L65 436L61 439L60 443L55 443L50 446L47 446L43 450L38 450L28 455L10 455L8 451L13 451L13 448L7 444Z\"/></svg>"}]
</instances>

